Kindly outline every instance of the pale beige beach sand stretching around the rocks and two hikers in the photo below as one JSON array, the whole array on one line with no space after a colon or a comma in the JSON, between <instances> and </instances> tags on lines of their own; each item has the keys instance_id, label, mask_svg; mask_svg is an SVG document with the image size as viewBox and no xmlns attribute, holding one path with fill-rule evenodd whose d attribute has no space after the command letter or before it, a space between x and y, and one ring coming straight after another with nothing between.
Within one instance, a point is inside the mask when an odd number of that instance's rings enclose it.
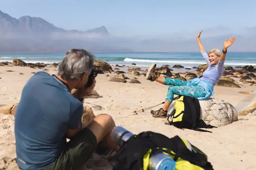
<instances>
[{"instance_id":1,"label":"pale beige beach sand stretching around the rocks and two hikers","mask_svg":"<svg viewBox=\"0 0 256 170\"><path fill-rule=\"evenodd\" d=\"M54 73L55 68L49 68ZM7 72L12 70L13 72ZM21 91L32 72L38 68L0 66L0 105L19 102ZM23 74L20 74L23 73ZM256 169L256 116L239 116L239 120L224 127L211 129L213 133L180 130L165 124L166 120L154 118L150 110L133 115L135 109L156 105L165 100L168 86L150 82L145 77L136 76L141 84L109 82L114 74L98 74L95 90L102 96L98 99L85 99L84 105L99 105L103 110L93 109L95 115L110 114L117 126L123 126L133 133L154 131L168 137L179 135L205 152L216 170ZM133 78L131 74L127 77ZM181 76L184 76L181 75ZM238 81L239 79L235 79ZM239 84L240 85L240 84ZM236 106L247 94L239 91L256 90L245 83L241 88L215 87L213 98L218 98ZM88 104L89 103L89 104ZM46 106L47 107L47 106ZM162 105L157 106L159 109ZM0 115L0 170L16 170L15 163L14 117ZM110 164L99 155L93 155L84 170L111 169Z\"/></svg>"}]
</instances>

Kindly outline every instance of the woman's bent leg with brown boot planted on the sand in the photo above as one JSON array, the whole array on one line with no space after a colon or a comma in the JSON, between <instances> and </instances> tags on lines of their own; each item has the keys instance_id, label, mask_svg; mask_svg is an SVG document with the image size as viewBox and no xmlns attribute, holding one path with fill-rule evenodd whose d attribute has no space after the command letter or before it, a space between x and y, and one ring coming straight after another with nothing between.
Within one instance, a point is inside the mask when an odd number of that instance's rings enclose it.
<instances>
[{"instance_id":1,"label":"woman's bent leg with brown boot planted on the sand","mask_svg":"<svg viewBox=\"0 0 256 170\"><path fill-rule=\"evenodd\" d=\"M189 97L204 97L206 95L205 90L203 87L196 85L196 86L170 86L168 88L168 92L165 99L165 104L163 108L157 111L151 111L153 117L161 117L165 118L167 116L168 108L170 107L172 100L174 98L174 94L178 96L189 96Z\"/></svg>"}]
</instances>

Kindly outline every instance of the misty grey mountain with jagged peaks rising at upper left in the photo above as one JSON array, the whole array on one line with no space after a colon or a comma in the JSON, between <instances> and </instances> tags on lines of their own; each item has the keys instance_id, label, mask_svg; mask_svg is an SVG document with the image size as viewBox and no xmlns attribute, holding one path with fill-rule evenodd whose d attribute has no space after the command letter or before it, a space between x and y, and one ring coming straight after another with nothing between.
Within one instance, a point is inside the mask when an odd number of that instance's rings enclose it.
<instances>
[{"instance_id":1,"label":"misty grey mountain with jagged peaks rising at upper left","mask_svg":"<svg viewBox=\"0 0 256 170\"><path fill-rule=\"evenodd\" d=\"M40 17L14 18L0 11L0 52L65 52L83 48L91 52L133 52L99 43L110 36L105 26L87 31L65 30Z\"/></svg>"}]
</instances>

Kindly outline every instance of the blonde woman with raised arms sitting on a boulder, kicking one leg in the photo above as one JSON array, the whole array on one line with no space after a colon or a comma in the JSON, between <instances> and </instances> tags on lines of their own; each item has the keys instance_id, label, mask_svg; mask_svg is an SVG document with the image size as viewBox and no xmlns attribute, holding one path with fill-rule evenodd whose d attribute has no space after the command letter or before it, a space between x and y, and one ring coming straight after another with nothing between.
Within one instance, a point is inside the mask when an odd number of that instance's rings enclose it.
<instances>
[{"instance_id":1,"label":"blonde woman with raised arms sitting on a boulder, kicking one leg","mask_svg":"<svg viewBox=\"0 0 256 170\"><path fill-rule=\"evenodd\" d=\"M229 41L226 39L223 45L222 54L218 49L210 50L210 52L207 54L200 41L201 33L202 31L200 31L200 33L197 35L197 43L201 54L209 66L204 71L203 77L197 77L189 82L185 82L179 79L165 78L164 76L158 77L155 73L156 64L152 64L149 67L148 73L146 74L146 79L170 86L163 108L157 111L151 111L153 117L167 117L167 111L172 103L174 94L195 97L198 100L206 100L209 99L210 96L213 96L213 87L219 81L222 73L225 70L224 61L226 58L227 48L235 43L235 37L232 37Z\"/></svg>"}]
</instances>

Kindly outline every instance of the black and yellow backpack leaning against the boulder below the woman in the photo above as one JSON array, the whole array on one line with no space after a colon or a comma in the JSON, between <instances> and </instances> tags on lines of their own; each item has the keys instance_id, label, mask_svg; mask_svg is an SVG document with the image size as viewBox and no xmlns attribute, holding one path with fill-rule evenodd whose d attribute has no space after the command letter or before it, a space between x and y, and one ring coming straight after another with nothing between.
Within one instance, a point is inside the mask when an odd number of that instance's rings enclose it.
<instances>
[{"instance_id":1,"label":"black and yellow backpack leaning against the boulder below the woman","mask_svg":"<svg viewBox=\"0 0 256 170\"><path fill-rule=\"evenodd\" d=\"M210 132L199 129L215 127L200 120L200 113L201 108L198 99L189 96L180 96L174 103L174 110L167 118L168 123L165 124L173 125L180 129L185 128L201 132ZM170 121L169 118L172 118L172 120Z\"/></svg>"}]
</instances>

